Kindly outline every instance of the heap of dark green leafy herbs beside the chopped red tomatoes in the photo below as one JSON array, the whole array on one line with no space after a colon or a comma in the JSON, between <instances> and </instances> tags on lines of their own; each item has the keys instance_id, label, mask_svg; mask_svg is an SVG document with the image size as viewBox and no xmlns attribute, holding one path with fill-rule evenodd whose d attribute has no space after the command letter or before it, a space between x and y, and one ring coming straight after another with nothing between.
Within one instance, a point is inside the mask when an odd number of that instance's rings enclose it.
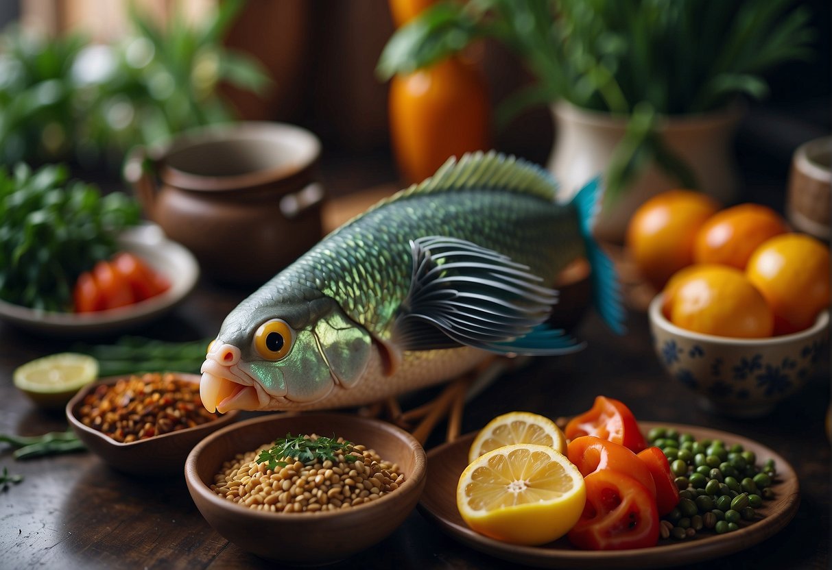
<instances>
[{"instance_id":1,"label":"heap of dark green leafy herbs beside the chopped red tomatoes","mask_svg":"<svg viewBox=\"0 0 832 570\"><path fill-rule=\"evenodd\" d=\"M0 298L46 311L72 310L79 274L116 253L116 236L140 219L134 199L67 183L67 169L0 169Z\"/></svg>"}]
</instances>

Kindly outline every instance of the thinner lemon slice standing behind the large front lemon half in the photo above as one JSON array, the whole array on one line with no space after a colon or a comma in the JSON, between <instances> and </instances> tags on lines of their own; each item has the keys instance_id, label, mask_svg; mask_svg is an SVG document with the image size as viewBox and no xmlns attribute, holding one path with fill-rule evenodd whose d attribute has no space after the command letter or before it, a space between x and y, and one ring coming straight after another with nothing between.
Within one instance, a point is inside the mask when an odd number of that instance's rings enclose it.
<instances>
[{"instance_id":1,"label":"thinner lemon slice standing behind the large front lemon half","mask_svg":"<svg viewBox=\"0 0 832 570\"><path fill-rule=\"evenodd\" d=\"M513 411L498 415L480 430L468 451L468 463L503 445L548 445L562 454L567 452L567 438L555 422L543 415Z\"/></svg>"}]
</instances>

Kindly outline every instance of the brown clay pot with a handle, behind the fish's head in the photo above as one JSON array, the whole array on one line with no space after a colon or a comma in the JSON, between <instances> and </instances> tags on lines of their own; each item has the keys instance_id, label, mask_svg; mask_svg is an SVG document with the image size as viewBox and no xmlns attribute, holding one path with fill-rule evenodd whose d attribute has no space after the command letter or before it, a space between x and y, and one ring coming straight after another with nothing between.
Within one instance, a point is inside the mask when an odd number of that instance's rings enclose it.
<instances>
[{"instance_id":1,"label":"brown clay pot with a handle, behind the fish's head","mask_svg":"<svg viewBox=\"0 0 832 570\"><path fill-rule=\"evenodd\" d=\"M134 150L125 177L146 216L206 275L260 284L322 237L319 154L300 127L242 122Z\"/></svg>"}]
</instances>

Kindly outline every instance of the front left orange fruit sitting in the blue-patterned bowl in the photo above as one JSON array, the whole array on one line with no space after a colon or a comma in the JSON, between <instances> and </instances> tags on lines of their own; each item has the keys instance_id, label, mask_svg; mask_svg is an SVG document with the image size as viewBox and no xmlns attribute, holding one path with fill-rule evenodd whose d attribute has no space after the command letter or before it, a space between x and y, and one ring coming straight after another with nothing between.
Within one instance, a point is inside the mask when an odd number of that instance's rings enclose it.
<instances>
[{"instance_id":1,"label":"front left orange fruit sitting in the blue-patterned bowl","mask_svg":"<svg viewBox=\"0 0 832 570\"><path fill-rule=\"evenodd\" d=\"M718 337L762 338L774 314L745 273L726 265L691 266L672 283L670 319L677 327Z\"/></svg>"}]
</instances>

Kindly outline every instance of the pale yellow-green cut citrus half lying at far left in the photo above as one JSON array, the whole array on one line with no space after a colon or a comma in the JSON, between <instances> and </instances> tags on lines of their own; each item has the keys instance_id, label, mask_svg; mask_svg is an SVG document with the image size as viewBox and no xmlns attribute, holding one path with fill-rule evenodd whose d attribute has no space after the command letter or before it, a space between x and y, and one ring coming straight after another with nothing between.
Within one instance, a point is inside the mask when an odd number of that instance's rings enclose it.
<instances>
[{"instance_id":1,"label":"pale yellow-green cut citrus half lying at far left","mask_svg":"<svg viewBox=\"0 0 832 570\"><path fill-rule=\"evenodd\" d=\"M98 361L86 354L61 352L43 356L17 368L14 385L42 408L67 405L82 386L98 376Z\"/></svg>"}]
</instances>

